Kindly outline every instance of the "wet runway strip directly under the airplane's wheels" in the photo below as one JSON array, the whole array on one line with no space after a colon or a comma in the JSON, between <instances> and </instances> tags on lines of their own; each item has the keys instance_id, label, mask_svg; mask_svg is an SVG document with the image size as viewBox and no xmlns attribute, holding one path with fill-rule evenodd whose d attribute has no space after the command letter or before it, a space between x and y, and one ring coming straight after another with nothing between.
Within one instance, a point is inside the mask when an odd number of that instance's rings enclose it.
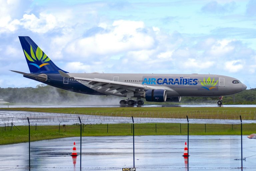
<instances>
[{"instance_id":1,"label":"wet runway strip directly under the airplane's wheels","mask_svg":"<svg viewBox=\"0 0 256 171\"><path fill-rule=\"evenodd\" d=\"M6 108L8 105L0 105L0 108ZM202 104L202 105L143 105L143 106L120 106L120 105L9 105L9 107L31 107L31 108L65 108L65 107L256 107L256 105L217 105L217 104Z\"/></svg>"}]
</instances>

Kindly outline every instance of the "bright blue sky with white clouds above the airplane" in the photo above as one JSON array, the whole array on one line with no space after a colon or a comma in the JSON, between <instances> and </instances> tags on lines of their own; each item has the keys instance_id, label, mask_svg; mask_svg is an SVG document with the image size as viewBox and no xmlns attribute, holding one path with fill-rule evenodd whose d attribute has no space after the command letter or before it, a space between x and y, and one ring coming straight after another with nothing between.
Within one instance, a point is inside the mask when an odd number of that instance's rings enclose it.
<instances>
[{"instance_id":1,"label":"bright blue sky with white clouds above the airplane","mask_svg":"<svg viewBox=\"0 0 256 171\"><path fill-rule=\"evenodd\" d=\"M35 87L18 36L73 72L219 74L256 88L255 0L0 0L0 87Z\"/></svg>"}]
</instances>

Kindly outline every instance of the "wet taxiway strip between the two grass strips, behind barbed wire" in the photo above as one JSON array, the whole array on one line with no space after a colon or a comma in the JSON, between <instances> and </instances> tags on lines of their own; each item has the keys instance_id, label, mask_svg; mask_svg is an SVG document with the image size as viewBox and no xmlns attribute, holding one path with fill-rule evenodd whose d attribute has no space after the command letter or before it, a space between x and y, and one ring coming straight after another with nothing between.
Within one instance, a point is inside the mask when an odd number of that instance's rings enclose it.
<instances>
[{"instance_id":1,"label":"wet taxiway strip between the two grass strips, behind barbed wire","mask_svg":"<svg viewBox=\"0 0 256 171\"><path fill-rule=\"evenodd\" d=\"M31 124L41 125L72 125L80 123L78 116L84 124L107 124L107 123L132 123L130 117L117 117L116 113L109 113L108 116L99 115L78 115L61 113L35 113L26 111L0 111L0 124L14 123L15 125L28 125L27 117ZM124 114L125 116L125 114ZM178 118L145 118L134 117L134 123L187 123L187 119ZM189 119L189 123L240 123L240 120L229 119ZM255 120L243 120L243 123L255 123Z\"/></svg>"}]
</instances>

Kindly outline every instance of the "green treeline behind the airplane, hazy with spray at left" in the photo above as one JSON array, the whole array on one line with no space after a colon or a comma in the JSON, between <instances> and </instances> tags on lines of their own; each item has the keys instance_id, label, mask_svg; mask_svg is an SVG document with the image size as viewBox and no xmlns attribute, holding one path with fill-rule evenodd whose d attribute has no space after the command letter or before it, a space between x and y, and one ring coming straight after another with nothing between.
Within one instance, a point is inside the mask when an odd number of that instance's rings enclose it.
<instances>
[{"instance_id":1,"label":"green treeline behind the airplane, hazy with spray at left","mask_svg":"<svg viewBox=\"0 0 256 171\"><path fill-rule=\"evenodd\" d=\"M36 88L0 88L0 99L12 104L116 105L119 104L121 98L74 93L40 84ZM182 97L180 103L165 102L164 104L215 104L217 100L218 97ZM223 104L256 104L256 89L244 90L235 95L224 96L223 100ZM145 102L145 104L154 103Z\"/></svg>"}]
</instances>

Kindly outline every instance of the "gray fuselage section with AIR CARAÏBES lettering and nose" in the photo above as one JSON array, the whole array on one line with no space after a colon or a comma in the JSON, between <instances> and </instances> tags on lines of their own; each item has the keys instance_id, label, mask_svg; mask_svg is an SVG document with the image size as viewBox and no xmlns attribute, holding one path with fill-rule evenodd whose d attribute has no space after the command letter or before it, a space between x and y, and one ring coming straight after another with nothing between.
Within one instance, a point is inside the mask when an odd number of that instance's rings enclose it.
<instances>
[{"instance_id":1,"label":"gray fuselage section with AIR CARA\u00cfBES lettering and nose","mask_svg":"<svg viewBox=\"0 0 256 171\"><path fill-rule=\"evenodd\" d=\"M72 77L97 78L111 81L142 84L155 87L169 87L174 91L167 91L167 97L193 96L213 97L235 94L245 90L247 87L238 79L212 74L110 74L110 73L68 73ZM64 78L65 79L65 78ZM78 81L88 88L88 81L68 80L70 83ZM67 80L66 80L67 83ZM126 97L127 94L105 91L99 87L92 88L105 95ZM139 91L139 89L138 89Z\"/></svg>"}]
</instances>

